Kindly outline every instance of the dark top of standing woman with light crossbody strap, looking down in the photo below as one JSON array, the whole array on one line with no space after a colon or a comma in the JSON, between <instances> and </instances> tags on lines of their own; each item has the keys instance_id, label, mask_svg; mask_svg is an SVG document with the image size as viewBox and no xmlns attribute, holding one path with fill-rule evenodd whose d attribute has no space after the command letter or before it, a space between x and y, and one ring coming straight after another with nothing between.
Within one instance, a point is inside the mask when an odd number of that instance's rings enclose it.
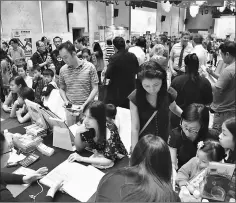
<instances>
[{"instance_id":1,"label":"dark top of standing woman with light crossbody strap, looking down","mask_svg":"<svg viewBox=\"0 0 236 203\"><path fill-rule=\"evenodd\" d=\"M137 90L134 90L129 96L129 100L137 105L137 100L136 100L136 94L137 94ZM168 106L175 101L177 94L176 91L173 88L169 88L168 89ZM139 122L140 122L140 130L144 127L144 125L147 123L147 121L149 120L149 118L152 116L152 114L154 113L154 111L156 111L156 108L152 107L148 102L147 102L147 106L145 108L145 111L138 109L138 113L139 113ZM159 134L158 133L158 126L161 125L161 118L158 119L158 114L157 113L155 115L155 117L152 119L152 121L148 124L148 126L145 128L145 130L142 132L142 134L139 136L139 139L141 139L144 135L147 134L153 134L156 136L160 136L162 139L164 139L165 141L167 141L168 138L168 134L163 135L163 134ZM165 116L169 117L169 109L167 109L167 112L165 114ZM159 120L159 124L158 124L158 120ZM168 118L169 120L169 118ZM169 125L167 125L167 127L169 127ZM168 130L168 129L167 129Z\"/></svg>"}]
</instances>

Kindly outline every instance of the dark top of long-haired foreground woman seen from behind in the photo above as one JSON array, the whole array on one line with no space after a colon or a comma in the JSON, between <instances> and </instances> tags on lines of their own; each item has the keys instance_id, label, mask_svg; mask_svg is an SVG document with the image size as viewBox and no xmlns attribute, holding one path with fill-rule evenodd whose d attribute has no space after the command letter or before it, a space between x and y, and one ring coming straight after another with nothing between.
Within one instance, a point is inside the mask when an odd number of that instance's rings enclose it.
<instances>
[{"instance_id":1,"label":"dark top of long-haired foreground woman seen from behind","mask_svg":"<svg viewBox=\"0 0 236 203\"><path fill-rule=\"evenodd\" d=\"M122 174L107 173L103 176L98 185L95 202L121 202L125 196L132 193L132 190L137 187L132 184L134 183L135 178L136 176L131 178ZM171 200L180 202L177 193L174 191L172 194L168 192L163 195L165 197L162 198L166 199L168 202ZM159 195L157 196L159 197ZM160 200L156 199L156 202L160 202Z\"/></svg>"}]
</instances>

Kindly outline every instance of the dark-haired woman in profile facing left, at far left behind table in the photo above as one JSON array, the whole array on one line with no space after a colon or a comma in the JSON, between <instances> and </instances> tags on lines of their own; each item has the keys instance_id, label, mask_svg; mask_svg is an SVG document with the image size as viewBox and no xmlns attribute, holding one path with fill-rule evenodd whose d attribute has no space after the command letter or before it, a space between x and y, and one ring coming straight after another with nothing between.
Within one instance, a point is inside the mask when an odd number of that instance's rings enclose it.
<instances>
[{"instance_id":1,"label":"dark-haired woman in profile facing left, at far left behind table","mask_svg":"<svg viewBox=\"0 0 236 203\"><path fill-rule=\"evenodd\" d=\"M27 87L27 84L21 76L10 78L9 83L11 92L9 93L5 102L2 105L2 108L5 112L11 112L14 102L17 100L19 91L22 88Z\"/></svg>"}]
</instances>

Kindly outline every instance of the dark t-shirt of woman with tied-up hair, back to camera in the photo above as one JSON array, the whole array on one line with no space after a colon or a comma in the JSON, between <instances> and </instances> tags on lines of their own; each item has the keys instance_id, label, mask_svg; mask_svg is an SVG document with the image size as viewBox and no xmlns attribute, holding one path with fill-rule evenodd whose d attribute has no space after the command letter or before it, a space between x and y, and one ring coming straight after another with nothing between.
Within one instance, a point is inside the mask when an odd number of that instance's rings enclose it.
<instances>
[{"instance_id":1,"label":"dark t-shirt of woman with tied-up hair, back to camera","mask_svg":"<svg viewBox=\"0 0 236 203\"><path fill-rule=\"evenodd\" d=\"M212 87L206 78L199 76L198 82L195 83L188 75L181 75L172 81L171 87L178 93L176 104L180 108L192 103L207 105L213 101Z\"/></svg>"}]
</instances>

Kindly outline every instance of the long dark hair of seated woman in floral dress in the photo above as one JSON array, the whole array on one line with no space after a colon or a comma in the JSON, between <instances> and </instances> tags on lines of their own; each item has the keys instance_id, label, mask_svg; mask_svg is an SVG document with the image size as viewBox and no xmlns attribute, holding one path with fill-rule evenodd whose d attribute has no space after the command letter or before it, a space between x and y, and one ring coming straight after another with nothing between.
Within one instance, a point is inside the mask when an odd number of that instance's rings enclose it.
<instances>
[{"instance_id":1,"label":"long dark hair of seated woman in floral dress","mask_svg":"<svg viewBox=\"0 0 236 203\"><path fill-rule=\"evenodd\" d=\"M91 101L84 107L83 113L89 110L91 116L97 121L100 137L98 143L106 140L106 108L101 101Z\"/></svg>"}]
</instances>

